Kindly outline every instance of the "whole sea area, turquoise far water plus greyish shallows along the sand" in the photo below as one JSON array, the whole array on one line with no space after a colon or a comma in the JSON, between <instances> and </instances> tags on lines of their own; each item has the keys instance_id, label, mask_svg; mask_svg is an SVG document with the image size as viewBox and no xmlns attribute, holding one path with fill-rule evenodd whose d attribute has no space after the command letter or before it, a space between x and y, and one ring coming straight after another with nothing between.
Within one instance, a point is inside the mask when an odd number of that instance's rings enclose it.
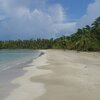
<instances>
[{"instance_id":1,"label":"whole sea area, turquoise far water plus greyish shallows along the sand","mask_svg":"<svg viewBox=\"0 0 100 100\"><path fill-rule=\"evenodd\" d=\"M23 67L40 56L35 50L0 50L0 100L4 100L17 87L11 81L25 73Z\"/></svg>"}]
</instances>

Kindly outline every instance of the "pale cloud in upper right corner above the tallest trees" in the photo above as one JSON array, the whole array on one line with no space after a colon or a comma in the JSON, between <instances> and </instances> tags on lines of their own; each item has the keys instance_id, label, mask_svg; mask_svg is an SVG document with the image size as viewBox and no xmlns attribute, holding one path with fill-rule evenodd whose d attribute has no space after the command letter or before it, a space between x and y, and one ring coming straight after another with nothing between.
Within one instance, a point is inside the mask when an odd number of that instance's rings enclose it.
<instances>
[{"instance_id":1,"label":"pale cloud in upper right corner above the tallest trees","mask_svg":"<svg viewBox=\"0 0 100 100\"><path fill-rule=\"evenodd\" d=\"M86 14L78 22L78 27L83 27L91 24L97 17L100 16L100 0L94 0L87 7Z\"/></svg>"}]
</instances>

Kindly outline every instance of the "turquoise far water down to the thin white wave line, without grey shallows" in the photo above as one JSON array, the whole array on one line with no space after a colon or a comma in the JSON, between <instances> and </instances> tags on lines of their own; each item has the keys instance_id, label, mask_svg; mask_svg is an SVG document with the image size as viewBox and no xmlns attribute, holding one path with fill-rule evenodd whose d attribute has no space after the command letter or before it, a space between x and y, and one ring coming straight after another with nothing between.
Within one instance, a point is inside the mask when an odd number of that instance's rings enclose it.
<instances>
[{"instance_id":1,"label":"turquoise far water down to the thin white wave line, without grey shallows","mask_svg":"<svg viewBox=\"0 0 100 100\"><path fill-rule=\"evenodd\" d=\"M38 57L34 50L0 50L0 72L24 64Z\"/></svg>"}]
</instances>

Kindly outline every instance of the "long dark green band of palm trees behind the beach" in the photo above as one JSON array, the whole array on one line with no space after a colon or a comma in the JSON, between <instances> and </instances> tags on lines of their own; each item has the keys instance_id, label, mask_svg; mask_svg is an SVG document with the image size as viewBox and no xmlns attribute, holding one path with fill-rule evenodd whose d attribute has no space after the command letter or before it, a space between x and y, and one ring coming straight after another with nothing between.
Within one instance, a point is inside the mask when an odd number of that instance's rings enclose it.
<instances>
[{"instance_id":1,"label":"long dark green band of palm trees behind the beach","mask_svg":"<svg viewBox=\"0 0 100 100\"><path fill-rule=\"evenodd\" d=\"M70 36L57 39L0 41L0 49L69 49L100 51L100 17Z\"/></svg>"}]
</instances>

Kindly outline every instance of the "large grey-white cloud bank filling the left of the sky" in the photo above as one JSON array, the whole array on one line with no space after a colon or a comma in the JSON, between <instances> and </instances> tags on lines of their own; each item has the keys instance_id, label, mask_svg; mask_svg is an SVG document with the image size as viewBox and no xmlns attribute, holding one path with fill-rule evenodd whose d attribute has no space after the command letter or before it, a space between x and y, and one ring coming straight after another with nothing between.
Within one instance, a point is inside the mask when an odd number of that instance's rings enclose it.
<instances>
[{"instance_id":1,"label":"large grey-white cloud bank filling the left of the sky","mask_svg":"<svg viewBox=\"0 0 100 100\"><path fill-rule=\"evenodd\" d=\"M47 0L0 0L0 39L49 38L71 33L75 22L68 22L60 4Z\"/></svg>"}]
</instances>

